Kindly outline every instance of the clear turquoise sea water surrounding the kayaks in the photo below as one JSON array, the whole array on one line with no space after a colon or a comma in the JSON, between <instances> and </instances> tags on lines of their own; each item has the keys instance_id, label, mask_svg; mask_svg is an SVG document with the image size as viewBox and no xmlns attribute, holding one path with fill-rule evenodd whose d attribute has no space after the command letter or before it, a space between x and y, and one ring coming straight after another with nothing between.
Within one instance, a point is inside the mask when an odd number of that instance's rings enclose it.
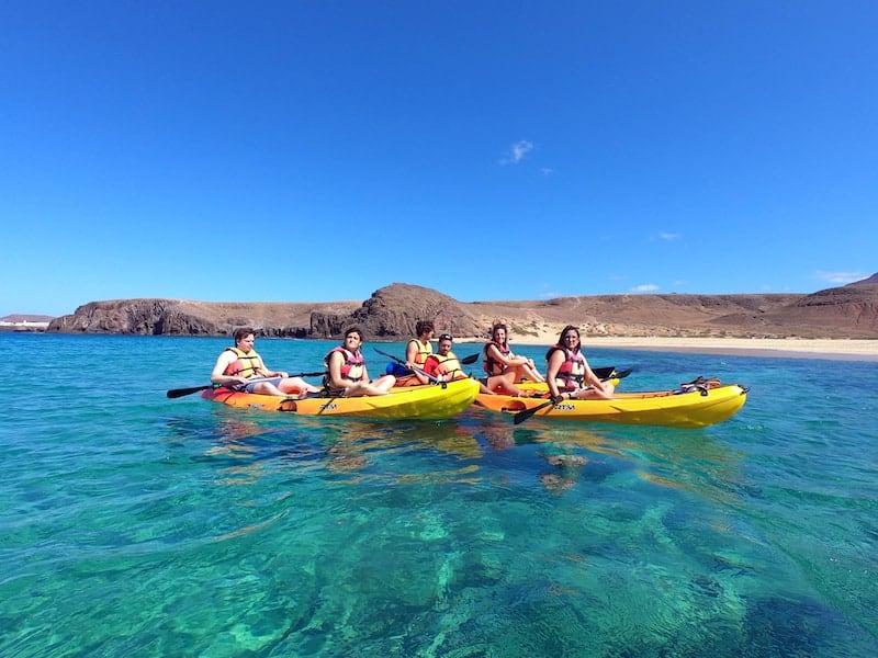
<instances>
[{"instance_id":1,"label":"clear turquoise sea water surrounding the kayaks","mask_svg":"<svg viewBox=\"0 0 878 658\"><path fill-rule=\"evenodd\" d=\"M588 352L752 387L705 430L165 397L226 342L0 333L0 655L878 655L876 363Z\"/></svg>"}]
</instances>

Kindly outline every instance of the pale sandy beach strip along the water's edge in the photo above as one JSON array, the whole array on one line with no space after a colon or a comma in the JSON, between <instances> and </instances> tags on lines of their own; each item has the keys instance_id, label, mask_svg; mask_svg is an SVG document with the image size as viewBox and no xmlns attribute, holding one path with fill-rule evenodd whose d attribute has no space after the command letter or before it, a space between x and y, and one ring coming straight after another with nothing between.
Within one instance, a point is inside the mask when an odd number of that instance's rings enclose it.
<instances>
[{"instance_id":1,"label":"pale sandy beach strip along the water's edge","mask_svg":"<svg viewBox=\"0 0 878 658\"><path fill-rule=\"evenodd\" d=\"M878 363L878 340L806 339L806 338L686 338L686 337L608 337L583 334L583 348L619 349L649 352L687 352L725 354L729 356L763 356L773 359L828 359L832 361L866 361ZM558 332L539 336L513 334L513 345L551 345ZM459 340L457 342L481 342ZM515 348L513 348L515 350Z\"/></svg>"}]
</instances>

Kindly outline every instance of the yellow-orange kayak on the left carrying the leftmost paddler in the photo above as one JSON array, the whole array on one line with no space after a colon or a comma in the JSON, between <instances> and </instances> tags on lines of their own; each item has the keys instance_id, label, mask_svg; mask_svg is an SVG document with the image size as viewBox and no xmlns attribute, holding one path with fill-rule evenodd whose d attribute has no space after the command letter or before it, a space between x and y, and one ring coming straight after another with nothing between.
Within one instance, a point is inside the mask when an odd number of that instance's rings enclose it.
<instances>
[{"instance_id":1,"label":"yellow-orange kayak on the left carrying the leftmost paddler","mask_svg":"<svg viewBox=\"0 0 878 658\"><path fill-rule=\"evenodd\" d=\"M479 394L479 382L458 379L448 384L427 384L392 388L389 395L363 397L280 397L240 393L223 386L209 388L201 397L230 407L288 411L300 416L357 416L360 418L423 418L437 420L464 411Z\"/></svg>"}]
</instances>

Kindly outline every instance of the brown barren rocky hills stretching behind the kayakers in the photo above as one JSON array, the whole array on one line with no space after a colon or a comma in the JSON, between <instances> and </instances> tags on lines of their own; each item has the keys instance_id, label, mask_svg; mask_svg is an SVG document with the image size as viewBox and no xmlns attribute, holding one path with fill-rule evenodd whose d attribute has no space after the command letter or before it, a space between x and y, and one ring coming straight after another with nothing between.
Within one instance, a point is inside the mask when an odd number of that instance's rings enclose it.
<instances>
[{"instance_id":1,"label":"brown barren rocky hills stretching behind the kayakers","mask_svg":"<svg viewBox=\"0 0 878 658\"><path fill-rule=\"evenodd\" d=\"M878 275L803 294L595 295L548 300L462 303L394 283L363 302L211 303L182 299L91 302L48 331L228 336L251 326L263 336L339 338L360 326L368 340L402 340L428 318L438 331L484 338L493 321L536 336L574 324L592 336L878 338Z\"/></svg>"}]
</instances>

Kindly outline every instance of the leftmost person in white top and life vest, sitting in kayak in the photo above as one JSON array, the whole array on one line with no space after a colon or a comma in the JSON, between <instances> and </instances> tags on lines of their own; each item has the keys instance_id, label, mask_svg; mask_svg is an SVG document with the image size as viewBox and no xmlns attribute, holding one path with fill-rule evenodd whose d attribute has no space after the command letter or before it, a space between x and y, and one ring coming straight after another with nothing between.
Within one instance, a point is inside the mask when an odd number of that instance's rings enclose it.
<instances>
[{"instance_id":1,"label":"leftmost person in white top and life vest, sitting in kayak","mask_svg":"<svg viewBox=\"0 0 878 658\"><path fill-rule=\"evenodd\" d=\"M302 377L289 377L283 371L270 370L262 358L254 350L256 334L250 327L241 327L234 333L235 347L226 348L216 359L211 373L211 382L260 395L281 395L319 393L322 389L308 384Z\"/></svg>"}]
</instances>

